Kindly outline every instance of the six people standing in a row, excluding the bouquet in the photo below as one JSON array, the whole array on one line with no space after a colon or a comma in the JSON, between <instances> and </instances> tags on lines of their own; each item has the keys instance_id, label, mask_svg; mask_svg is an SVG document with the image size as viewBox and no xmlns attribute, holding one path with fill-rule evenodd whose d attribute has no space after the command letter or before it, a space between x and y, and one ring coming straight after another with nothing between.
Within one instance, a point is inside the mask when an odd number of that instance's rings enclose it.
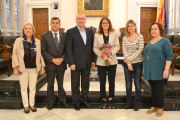
<instances>
[{"instance_id":1,"label":"six people standing in a row, excluding the bouquet","mask_svg":"<svg viewBox=\"0 0 180 120\"><path fill-rule=\"evenodd\" d=\"M22 29L23 37L15 41L12 57L14 74L19 75L21 95L24 112L29 113L29 104L32 112L34 107L36 82L38 72L47 78L48 110L53 109L55 102L54 80L58 83L59 102L65 108L66 92L63 88L64 73L67 63L71 69L71 90L75 110L80 110L84 104L87 108L89 92L90 69L97 65L100 79L100 108L115 108L113 97L115 91L115 76L117 68L116 53L120 49L118 34L115 32L109 18L100 20L98 31L85 27L86 16L79 13L76 16L77 25L67 30L66 34L59 31L60 19L51 19L51 30L42 34L41 41L34 38L35 29L32 24L27 23ZM141 101L141 76L143 71L144 38L137 32L136 23L129 20L126 24L126 36L123 38L124 74L126 81L127 105L129 109L132 101L132 78L135 84L134 110L139 109ZM164 29L161 24L153 23L149 27L149 34L153 38L144 50L144 79L149 81L152 88L152 107L147 113L157 111L157 116L163 113L164 94L163 85L168 81L169 68L172 60L172 48L170 42L164 38ZM41 43L40 43L41 42ZM109 53L100 53L98 47L102 44L111 44L113 50ZM95 55L97 59L95 60ZM111 56L113 64L104 65L104 57ZM95 64L96 62L96 64ZM106 73L108 72L109 97L106 96ZM81 96L80 96L81 82ZM27 88L29 84L29 100Z\"/></svg>"}]
</instances>

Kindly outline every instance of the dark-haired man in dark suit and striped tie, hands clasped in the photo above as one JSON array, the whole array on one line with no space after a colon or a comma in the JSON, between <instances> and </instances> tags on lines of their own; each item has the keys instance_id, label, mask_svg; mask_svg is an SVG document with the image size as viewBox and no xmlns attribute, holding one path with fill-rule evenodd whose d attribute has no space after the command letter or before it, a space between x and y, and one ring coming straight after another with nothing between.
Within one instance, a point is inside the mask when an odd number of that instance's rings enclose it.
<instances>
[{"instance_id":1,"label":"dark-haired man in dark suit and striped tie, hands clasped","mask_svg":"<svg viewBox=\"0 0 180 120\"><path fill-rule=\"evenodd\" d=\"M46 78L48 83L48 110L53 109L55 102L55 77L58 83L59 101L64 105L64 107L68 107L68 104L66 103L66 93L63 88L64 72L67 69L65 55L65 33L59 32L60 19L58 17L53 17L50 25L51 30L43 33L41 38L41 51L46 64Z\"/></svg>"}]
</instances>

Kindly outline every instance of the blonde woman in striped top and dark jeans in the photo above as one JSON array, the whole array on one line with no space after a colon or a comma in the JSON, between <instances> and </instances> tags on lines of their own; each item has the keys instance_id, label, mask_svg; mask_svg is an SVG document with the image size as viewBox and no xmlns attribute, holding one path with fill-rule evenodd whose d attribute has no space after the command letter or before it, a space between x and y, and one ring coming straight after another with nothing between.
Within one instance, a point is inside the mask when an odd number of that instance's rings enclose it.
<instances>
[{"instance_id":1,"label":"blonde woman in striped top and dark jeans","mask_svg":"<svg viewBox=\"0 0 180 120\"><path fill-rule=\"evenodd\" d=\"M139 109L141 100L141 75L143 69L142 51L144 48L144 38L138 34L136 23L129 20L126 24L126 36L123 38L123 55L124 55L124 74L126 81L127 105L126 109L132 106L132 74L134 74L134 85L136 91L134 110Z\"/></svg>"}]
</instances>

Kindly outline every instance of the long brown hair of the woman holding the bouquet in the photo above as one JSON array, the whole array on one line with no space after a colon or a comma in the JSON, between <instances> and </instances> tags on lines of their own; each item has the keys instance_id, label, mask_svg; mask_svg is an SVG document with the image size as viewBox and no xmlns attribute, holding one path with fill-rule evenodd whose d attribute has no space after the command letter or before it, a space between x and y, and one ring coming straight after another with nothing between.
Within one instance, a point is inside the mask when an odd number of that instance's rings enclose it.
<instances>
[{"instance_id":1,"label":"long brown hair of the woman holding the bouquet","mask_svg":"<svg viewBox=\"0 0 180 120\"><path fill-rule=\"evenodd\" d=\"M107 20L109 22L109 28L108 28L108 31L110 32L113 32L114 31L114 28L112 27L112 23L111 23L111 20L107 17L103 17L101 18L100 22L99 22L99 28L98 28L98 31L97 33L101 34L102 31L103 31L103 28L102 28L102 21L103 20Z\"/></svg>"}]
</instances>

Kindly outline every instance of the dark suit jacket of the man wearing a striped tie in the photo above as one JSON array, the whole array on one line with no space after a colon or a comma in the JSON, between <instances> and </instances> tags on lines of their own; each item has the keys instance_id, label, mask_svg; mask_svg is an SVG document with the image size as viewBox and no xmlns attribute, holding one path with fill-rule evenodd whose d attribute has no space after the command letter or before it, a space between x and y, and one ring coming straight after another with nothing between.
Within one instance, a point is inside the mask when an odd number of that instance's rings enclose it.
<instances>
[{"instance_id":1,"label":"dark suit jacket of the man wearing a striped tie","mask_svg":"<svg viewBox=\"0 0 180 120\"><path fill-rule=\"evenodd\" d=\"M52 31L48 31L42 34L41 51L46 63L47 70L55 70L57 68L57 70L64 71L67 69L65 54L65 36L65 33L59 32L60 45L59 49L57 50ZM63 62L59 66L57 66L52 62L53 58L63 58Z\"/></svg>"}]
</instances>

